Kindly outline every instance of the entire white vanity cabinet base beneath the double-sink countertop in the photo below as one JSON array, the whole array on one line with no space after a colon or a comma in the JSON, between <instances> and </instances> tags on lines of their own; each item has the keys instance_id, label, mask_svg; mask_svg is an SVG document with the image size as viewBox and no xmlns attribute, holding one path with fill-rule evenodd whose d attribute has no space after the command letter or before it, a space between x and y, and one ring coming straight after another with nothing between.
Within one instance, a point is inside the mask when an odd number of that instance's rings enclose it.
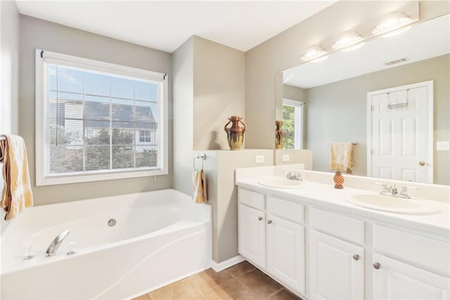
<instances>
[{"instance_id":1,"label":"entire white vanity cabinet base beneath the double-sink countertop","mask_svg":"<svg viewBox=\"0 0 450 300\"><path fill-rule=\"evenodd\" d=\"M238 201L239 253L304 298L450 299L448 237L242 187Z\"/></svg>"}]
</instances>

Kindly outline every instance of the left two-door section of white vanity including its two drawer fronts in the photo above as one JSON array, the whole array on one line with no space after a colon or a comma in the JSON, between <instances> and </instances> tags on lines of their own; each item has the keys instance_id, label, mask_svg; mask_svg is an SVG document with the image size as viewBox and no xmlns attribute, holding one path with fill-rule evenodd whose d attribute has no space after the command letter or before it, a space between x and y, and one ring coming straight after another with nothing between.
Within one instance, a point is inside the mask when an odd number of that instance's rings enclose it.
<instances>
[{"instance_id":1,"label":"left two-door section of white vanity including its two drawer fronts","mask_svg":"<svg viewBox=\"0 0 450 300\"><path fill-rule=\"evenodd\" d=\"M304 294L303 206L246 189L238 193L239 254Z\"/></svg>"}]
</instances>

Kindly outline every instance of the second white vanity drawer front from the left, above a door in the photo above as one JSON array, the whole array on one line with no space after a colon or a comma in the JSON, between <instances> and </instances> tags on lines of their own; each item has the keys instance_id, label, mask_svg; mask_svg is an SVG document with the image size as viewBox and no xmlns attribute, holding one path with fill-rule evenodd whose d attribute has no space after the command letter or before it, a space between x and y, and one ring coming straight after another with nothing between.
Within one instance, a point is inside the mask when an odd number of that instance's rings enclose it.
<instances>
[{"instance_id":1,"label":"second white vanity drawer front from the left, above a door","mask_svg":"<svg viewBox=\"0 0 450 300\"><path fill-rule=\"evenodd\" d=\"M302 204L268 196L267 212L295 223L304 223L304 206Z\"/></svg>"}]
</instances>

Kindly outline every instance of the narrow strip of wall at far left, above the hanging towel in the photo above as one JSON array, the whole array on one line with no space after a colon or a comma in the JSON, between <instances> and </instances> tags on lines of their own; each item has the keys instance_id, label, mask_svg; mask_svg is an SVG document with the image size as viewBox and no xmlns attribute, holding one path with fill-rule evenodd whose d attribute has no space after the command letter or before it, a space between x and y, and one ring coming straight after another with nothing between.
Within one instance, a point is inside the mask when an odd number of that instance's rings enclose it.
<instances>
[{"instance_id":1,"label":"narrow strip of wall at far left, above the hanging towel","mask_svg":"<svg viewBox=\"0 0 450 300\"><path fill-rule=\"evenodd\" d=\"M18 134L19 12L0 1L0 134Z\"/></svg>"}]
</instances>

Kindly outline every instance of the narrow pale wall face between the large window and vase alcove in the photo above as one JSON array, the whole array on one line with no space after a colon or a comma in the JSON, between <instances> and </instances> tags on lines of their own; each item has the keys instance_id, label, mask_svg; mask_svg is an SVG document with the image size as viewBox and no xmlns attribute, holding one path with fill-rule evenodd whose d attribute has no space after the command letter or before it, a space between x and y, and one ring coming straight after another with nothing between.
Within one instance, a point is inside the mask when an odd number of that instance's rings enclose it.
<instances>
[{"instance_id":1,"label":"narrow pale wall face between the large window and vase alcove","mask_svg":"<svg viewBox=\"0 0 450 300\"><path fill-rule=\"evenodd\" d=\"M173 187L192 194L193 159L193 37L174 57L174 182Z\"/></svg>"}]
</instances>

